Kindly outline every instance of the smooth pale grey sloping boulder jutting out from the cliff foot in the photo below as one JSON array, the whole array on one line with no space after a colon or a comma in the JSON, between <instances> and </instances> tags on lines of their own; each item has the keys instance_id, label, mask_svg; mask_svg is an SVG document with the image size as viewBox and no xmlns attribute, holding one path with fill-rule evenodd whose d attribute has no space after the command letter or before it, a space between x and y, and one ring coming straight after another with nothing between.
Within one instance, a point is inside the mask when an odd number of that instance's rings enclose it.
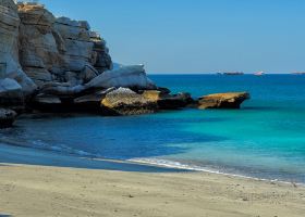
<instances>
[{"instance_id":1,"label":"smooth pale grey sloping boulder jutting out from the cliff foot","mask_svg":"<svg viewBox=\"0 0 305 217\"><path fill-rule=\"evenodd\" d=\"M85 85L86 89L107 88L156 89L155 84L147 77L144 65L122 66L118 69L107 71Z\"/></svg>"}]
</instances>

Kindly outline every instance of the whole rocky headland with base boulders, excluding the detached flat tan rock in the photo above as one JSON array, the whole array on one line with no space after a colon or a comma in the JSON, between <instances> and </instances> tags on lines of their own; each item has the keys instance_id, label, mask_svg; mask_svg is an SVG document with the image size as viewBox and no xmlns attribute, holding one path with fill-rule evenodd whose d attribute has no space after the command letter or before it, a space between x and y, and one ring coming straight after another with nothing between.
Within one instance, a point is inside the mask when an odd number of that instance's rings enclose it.
<instances>
[{"instance_id":1,"label":"whole rocky headland with base boulders, excluding the detached flat tan rock","mask_svg":"<svg viewBox=\"0 0 305 217\"><path fill-rule=\"evenodd\" d=\"M0 0L0 107L131 115L190 104L188 93L154 84L144 65L113 67L105 39L86 21Z\"/></svg>"}]
</instances>

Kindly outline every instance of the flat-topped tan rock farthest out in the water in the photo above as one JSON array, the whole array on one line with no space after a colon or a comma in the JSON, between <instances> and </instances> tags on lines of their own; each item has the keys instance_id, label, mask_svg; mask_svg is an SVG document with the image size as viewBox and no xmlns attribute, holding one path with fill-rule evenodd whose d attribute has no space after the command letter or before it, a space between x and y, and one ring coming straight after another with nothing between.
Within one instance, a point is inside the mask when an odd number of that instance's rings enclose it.
<instances>
[{"instance_id":1,"label":"flat-topped tan rock farthest out in the water","mask_svg":"<svg viewBox=\"0 0 305 217\"><path fill-rule=\"evenodd\" d=\"M205 108L240 108L241 104L249 99L247 92L227 92L205 95L199 99L198 107Z\"/></svg>"}]
</instances>

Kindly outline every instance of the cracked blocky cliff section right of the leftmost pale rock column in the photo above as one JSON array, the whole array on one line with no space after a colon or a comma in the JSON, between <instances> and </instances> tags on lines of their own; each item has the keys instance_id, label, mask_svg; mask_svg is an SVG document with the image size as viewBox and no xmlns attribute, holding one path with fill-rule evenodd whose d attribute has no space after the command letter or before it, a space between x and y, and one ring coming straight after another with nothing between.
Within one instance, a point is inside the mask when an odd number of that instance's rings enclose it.
<instances>
[{"instance_id":1,"label":"cracked blocky cliff section right of the leftmost pale rock column","mask_svg":"<svg viewBox=\"0 0 305 217\"><path fill-rule=\"evenodd\" d=\"M56 18L37 3L17 7L21 65L38 87L49 81L69 81L64 80L66 72L75 73L80 78L75 84L81 85L112 67L106 42L87 22Z\"/></svg>"}]
</instances>

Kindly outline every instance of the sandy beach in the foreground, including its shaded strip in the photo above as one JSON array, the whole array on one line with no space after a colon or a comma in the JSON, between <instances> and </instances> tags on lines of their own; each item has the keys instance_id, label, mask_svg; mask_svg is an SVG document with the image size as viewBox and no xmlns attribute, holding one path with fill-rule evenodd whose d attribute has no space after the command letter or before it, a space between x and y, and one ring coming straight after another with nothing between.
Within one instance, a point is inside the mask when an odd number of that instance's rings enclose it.
<instances>
[{"instance_id":1,"label":"sandy beach in the foreground, including its shaded strip","mask_svg":"<svg viewBox=\"0 0 305 217\"><path fill-rule=\"evenodd\" d=\"M305 189L293 183L157 173L154 167L142 171L142 165L7 145L0 146L0 216L301 217L305 213Z\"/></svg>"}]
</instances>

